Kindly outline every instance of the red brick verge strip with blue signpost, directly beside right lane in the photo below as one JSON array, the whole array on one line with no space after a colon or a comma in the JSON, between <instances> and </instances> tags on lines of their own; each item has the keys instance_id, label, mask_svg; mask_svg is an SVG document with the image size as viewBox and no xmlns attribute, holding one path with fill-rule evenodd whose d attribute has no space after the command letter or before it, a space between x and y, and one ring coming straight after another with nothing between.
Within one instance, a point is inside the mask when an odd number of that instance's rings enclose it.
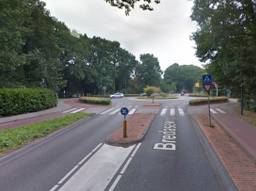
<instances>
[{"instance_id":1,"label":"red brick verge strip with blue signpost, directly beside right lane","mask_svg":"<svg viewBox=\"0 0 256 191\"><path fill-rule=\"evenodd\" d=\"M256 164L244 150L217 124L209 128L208 117L194 116L238 190L253 191L256 188Z\"/></svg>"}]
</instances>

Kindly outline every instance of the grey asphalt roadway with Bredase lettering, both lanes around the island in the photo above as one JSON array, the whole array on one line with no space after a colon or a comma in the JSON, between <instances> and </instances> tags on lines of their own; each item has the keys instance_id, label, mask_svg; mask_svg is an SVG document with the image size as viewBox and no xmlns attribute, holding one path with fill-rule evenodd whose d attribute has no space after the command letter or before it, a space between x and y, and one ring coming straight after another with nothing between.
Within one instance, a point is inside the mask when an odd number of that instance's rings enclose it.
<instances>
[{"instance_id":1,"label":"grey asphalt roadway with Bredase lettering, both lanes around the island","mask_svg":"<svg viewBox=\"0 0 256 191\"><path fill-rule=\"evenodd\" d=\"M1 158L0 190L227 190L195 133L187 99L161 102L140 144L128 148L104 144L122 122L115 111L143 103L116 99L104 115Z\"/></svg>"}]
</instances>

